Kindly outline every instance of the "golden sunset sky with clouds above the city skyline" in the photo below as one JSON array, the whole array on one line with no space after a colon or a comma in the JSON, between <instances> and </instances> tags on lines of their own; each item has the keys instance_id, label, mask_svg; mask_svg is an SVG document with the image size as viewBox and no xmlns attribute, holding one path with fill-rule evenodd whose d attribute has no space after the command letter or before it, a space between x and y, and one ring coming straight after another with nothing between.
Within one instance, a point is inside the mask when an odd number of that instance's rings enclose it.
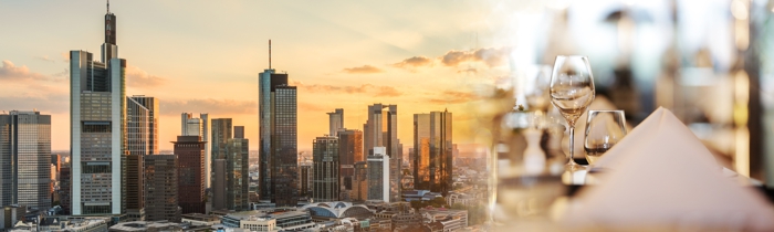
<instances>
[{"instance_id":1,"label":"golden sunset sky with clouds above the city skyline","mask_svg":"<svg viewBox=\"0 0 774 232\"><path fill-rule=\"evenodd\" d=\"M412 115L448 108L453 140L471 144L471 85L504 75L512 6L494 1L111 1L127 95L160 101L160 145L180 113L245 126L258 148L258 73L286 72L299 86L299 149L327 133L344 108L363 129L367 105L398 105L398 138ZM0 2L0 110L52 115L52 149L70 149L71 50L98 56L104 1Z\"/></svg>"}]
</instances>

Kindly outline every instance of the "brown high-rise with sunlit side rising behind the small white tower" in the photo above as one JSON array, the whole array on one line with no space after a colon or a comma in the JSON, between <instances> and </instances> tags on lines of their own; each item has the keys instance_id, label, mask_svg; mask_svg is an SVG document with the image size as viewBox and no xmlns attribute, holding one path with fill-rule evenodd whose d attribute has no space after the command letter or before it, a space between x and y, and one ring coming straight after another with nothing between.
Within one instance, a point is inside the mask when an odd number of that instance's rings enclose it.
<instances>
[{"instance_id":1,"label":"brown high-rise with sunlit side rising behind the small white tower","mask_svg":"<svg viewBox=\"0 0 774 232\"><path fill-rule=\"evenodd\" d=\"M384 109L387 108L385 112ZM402 145L398 139L398 106L383 105L380 103L368 106L368 120L363 125L363 154L369 152L374 147L385 147L385 154L391 159L389 168L389 198L400 201L400 164L402 164Z\"/></svg>"}]
</instances>

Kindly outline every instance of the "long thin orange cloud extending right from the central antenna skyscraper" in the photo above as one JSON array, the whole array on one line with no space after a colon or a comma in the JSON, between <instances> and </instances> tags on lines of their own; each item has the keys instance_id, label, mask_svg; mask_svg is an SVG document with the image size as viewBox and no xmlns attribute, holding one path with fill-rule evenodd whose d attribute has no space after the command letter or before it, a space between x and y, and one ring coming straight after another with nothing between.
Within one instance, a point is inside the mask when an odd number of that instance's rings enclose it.
<instances>
[{"instance_id":1,"label":"long thin orange cloud extending right from the central antenna skyscraper","mask_svg":"<svg viewBox=\"0 0 774 232\"><path fill-rule=\"evenodd\" d=\"M379 86L372 84L355 85L305 85L299 81L291 81L299 88L308 93L345 93L345 94L370 94L373 96L396 97L402 95L400 91L393 86Z\"/></svg>"}]
</instances>

